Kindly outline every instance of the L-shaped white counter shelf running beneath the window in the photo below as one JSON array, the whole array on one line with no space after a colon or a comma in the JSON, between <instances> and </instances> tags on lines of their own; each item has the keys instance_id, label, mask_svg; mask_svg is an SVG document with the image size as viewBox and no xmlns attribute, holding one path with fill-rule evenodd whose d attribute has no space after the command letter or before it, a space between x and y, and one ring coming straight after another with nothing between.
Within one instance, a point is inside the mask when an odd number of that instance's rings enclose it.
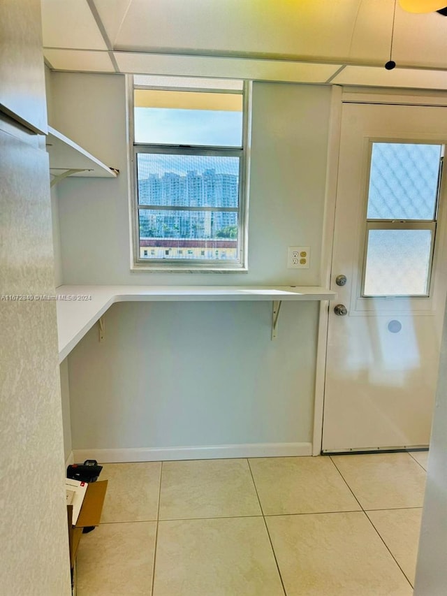
<instances>
[{"instance_id":1,"label":"L-shaped white counter shelf running beneath the window","mask_svg":"<svg viewBox=\"0 0 447 596\"><path fill-rule=\"evenodd\" d=\"M59 362L116 302L272 300L278 303L337 297L335 292L318 286L59 286L56 293ZM91 298L82 299L85 296Z\"/></svg>"}]
</instances>

